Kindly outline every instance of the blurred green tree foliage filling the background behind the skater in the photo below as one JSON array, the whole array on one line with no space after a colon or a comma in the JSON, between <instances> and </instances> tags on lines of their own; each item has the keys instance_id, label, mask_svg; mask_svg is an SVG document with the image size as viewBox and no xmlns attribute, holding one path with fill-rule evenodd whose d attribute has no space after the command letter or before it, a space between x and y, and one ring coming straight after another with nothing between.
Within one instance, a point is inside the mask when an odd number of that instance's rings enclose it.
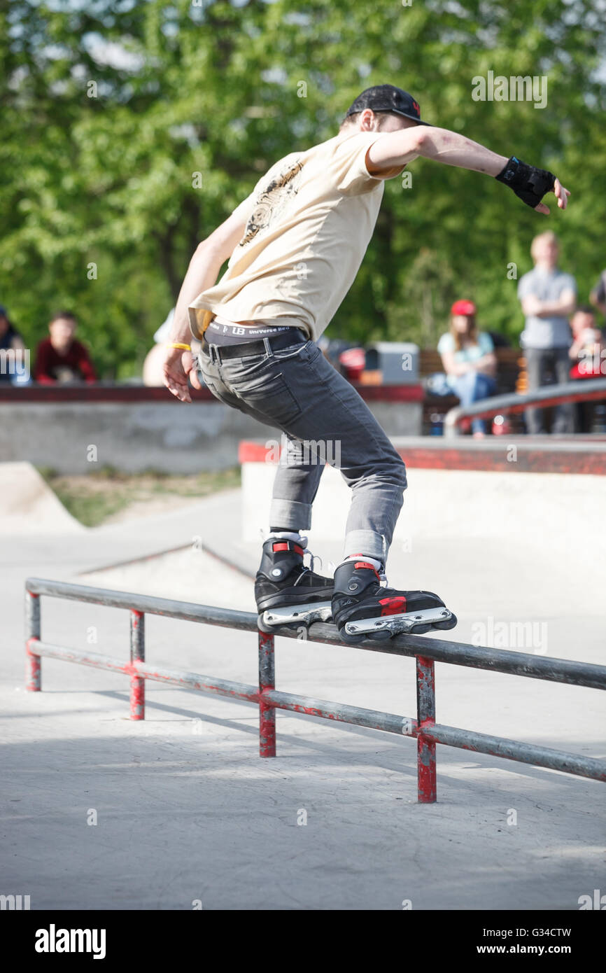
<instances>
[{"instance_id":1,"label":"blurred green tree foliage filling the background behind the skater","mask_svg":"<svg viewBox=\"0 0 606 973\"><path fill-rule=\"evenodd\" d=\"M337 131L360 90L552 168L565 214L434 162L386 187L329 334L433 343L457 296L513 337L533 234L553 228L586 298L606 263L601 0L0 0L0 303L30 346L58 307L106 378L138 374L198 240L271 162ZM546 75L548 103L475 101L488 71ZM201 185L195 188L195 173ZM91 270L96 266L96 272Z\"/></svg>"}]
</instances>

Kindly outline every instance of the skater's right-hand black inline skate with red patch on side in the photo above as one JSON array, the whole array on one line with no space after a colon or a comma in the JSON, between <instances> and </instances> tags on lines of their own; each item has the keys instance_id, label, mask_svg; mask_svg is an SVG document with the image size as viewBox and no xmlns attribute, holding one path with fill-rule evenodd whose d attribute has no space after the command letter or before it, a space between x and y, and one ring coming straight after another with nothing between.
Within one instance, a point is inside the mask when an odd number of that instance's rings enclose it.
<instances>
[{"instance_id":1,"label":"skater's right-hand black inline skate with red patch on side","mask_svg":"<svg viewBox=\"0 0 606 973\"><path fill-rule=\"evenodd\" d=\"M363 638L382 641L392 635L417 635L453 629L456 618L432 592L398 592L382 588L372 564L361 556L346 560L335 572L333 619L344 642Z\"/></svg>"}]
</instances>

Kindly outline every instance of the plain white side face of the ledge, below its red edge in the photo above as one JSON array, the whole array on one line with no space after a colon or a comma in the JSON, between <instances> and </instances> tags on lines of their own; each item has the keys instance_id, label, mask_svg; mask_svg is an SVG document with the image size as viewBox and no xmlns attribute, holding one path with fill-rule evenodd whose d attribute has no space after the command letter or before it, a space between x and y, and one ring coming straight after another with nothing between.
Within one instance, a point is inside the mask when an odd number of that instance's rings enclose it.
<instances>
[{"instance_id":1,"label":"plain white side face of the ledge, below its red edge","mask_svg":"<svg viewBox=\"0 0 606 973\"><path fill-rule=\"evenodd\" d=\"M242 537L258 540L268 527L273 463L242 466ZM483 541L486 548L514 549L520 560L540 549L546 561L565 564L571 575L606 586L604 478L585 474L500 473L483 470L410 469L409 487L394 545L413 553L427 541ZM338 470L326 467L313 504L309 546L341 540L351 493ZM599 584L597 583L599 579ZM540 590L541 579L536 579ZM601 587L600 587L601 586ZM562 599L568 593L562 591ZM574 606L571 605L571 611Z\"/></svg>"}]
</instances>

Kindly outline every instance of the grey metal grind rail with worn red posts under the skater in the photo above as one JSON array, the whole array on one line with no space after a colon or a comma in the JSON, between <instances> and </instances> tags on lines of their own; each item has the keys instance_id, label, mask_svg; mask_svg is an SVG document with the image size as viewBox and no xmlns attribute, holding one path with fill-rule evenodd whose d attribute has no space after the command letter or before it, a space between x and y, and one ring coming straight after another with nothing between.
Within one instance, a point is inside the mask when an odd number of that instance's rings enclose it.
<instances>
[{"instance_id":1,"label":"grey metal grind rail with worn red posts under the skater","mask_svg":"<svg viewBox=\"0 0 606 973\"><path fill-rule=\"evenodd\" d=\"M40 596L67 598L125 608L130 613L130 658L111 658L95 652L51 645L41 638ZM606 762L565 753L534 743L522 743L513 739L491 737L436 723L436 662L453 666L488 669L492 672L508 672L530 679L563 682L592 689L606 689L606 666L532 656L523 652L488 649L459 642L446 642L439 638L422 635L400 635L386 642L366 639L351 646L362 651L381 652L392 656L409 656L416 662L416 719L383 713L374 709L344 703L330 703L312 697L284 693L275 688L274 635L259 631L257 616L251 612L234 611L173 601L148 595L131 595L125 592L88 588L62 581L28 578L25 582L26 629L26 689L40 692L41 659L62 659L64 662L123 672L130 677L130 716L133 720L145 718L145 680L169 683L183 689L196 689L201 693L225 696L233 700L245 700L259 706L259 745L262 757L275 757L275 711L287 709L309 716L353 723L356 726L383 730L399 736L413 737L417 741L418 800L424 804L436 801L436 743L460 747L477 753L486 753L523 764L547 767L566 774L606 780ZM254 631L259 639L259 685L199 675L182 669L152 666L145 662L145 615L163 615L187 622L201 622L227 629ZM297 638L297 632L286 629L277 632L286 638ZM333 625L316 623L309 629L310 641L325 645L344 643Z\"/></svg>"}]
</instances>

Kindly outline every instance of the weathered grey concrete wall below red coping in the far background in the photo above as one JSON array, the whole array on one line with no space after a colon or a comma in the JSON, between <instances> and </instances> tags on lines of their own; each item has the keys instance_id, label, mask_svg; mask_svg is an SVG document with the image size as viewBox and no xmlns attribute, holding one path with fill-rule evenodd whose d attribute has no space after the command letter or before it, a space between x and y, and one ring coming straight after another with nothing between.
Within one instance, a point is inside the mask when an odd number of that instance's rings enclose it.
<instances>
[{"instance_id":1,"label":"weathered grey concrete wall below red coping in the far background","mask_svg":"<svg viewBox=\"0 0 606 973\"><path fill-rule=\"evenodd\" d=\"M370 408L390 436L420 432L421 406L377 402ZM279 439L279 430L221 403L23 402L0 405L0 460L28 460L58 473L106 464L127 473L196 473L237 464L241 439ZM96 462L89 461L96 447Z\"/></svg>"}]
</instances>

